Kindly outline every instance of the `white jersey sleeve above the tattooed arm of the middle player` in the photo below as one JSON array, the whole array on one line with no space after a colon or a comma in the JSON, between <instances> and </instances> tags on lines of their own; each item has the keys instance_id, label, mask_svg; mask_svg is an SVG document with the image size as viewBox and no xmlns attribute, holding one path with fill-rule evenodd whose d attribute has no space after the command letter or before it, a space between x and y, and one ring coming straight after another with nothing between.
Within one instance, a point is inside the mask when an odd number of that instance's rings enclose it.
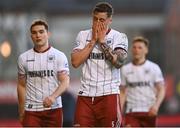
<instances>
[{"instance_id":1,"label":"white jersey sleeve above the tattooed arm of the middle player","mask_svg":"<svg viewBox=\"0 0 180 128\"><path fill-rule=\"evenodd\" d=\"M118 33L114 37L114 49L122 48L128 51L128 38L124 33Z\"/></svg>"}]
</instances>

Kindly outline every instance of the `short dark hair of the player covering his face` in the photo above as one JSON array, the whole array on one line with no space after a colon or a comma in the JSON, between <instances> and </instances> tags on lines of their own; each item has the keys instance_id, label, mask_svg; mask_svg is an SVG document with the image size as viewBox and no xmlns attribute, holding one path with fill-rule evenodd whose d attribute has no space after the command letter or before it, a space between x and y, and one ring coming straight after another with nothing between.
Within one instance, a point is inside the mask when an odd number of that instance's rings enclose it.
<instances>
[{"instance_id":1,"label":"short dark hair of the player covering his face","mask_svg":"<svg viewBox=\"0 0 180 128\"><path fill-rule=\"evenodd\" d=\"M99 2L95 5L93 9L93 14L97 12L106 12L108 17L111 17L113 15L113 8L112 5L110 5L107 2Z\"/></svg>"}]
</instances>

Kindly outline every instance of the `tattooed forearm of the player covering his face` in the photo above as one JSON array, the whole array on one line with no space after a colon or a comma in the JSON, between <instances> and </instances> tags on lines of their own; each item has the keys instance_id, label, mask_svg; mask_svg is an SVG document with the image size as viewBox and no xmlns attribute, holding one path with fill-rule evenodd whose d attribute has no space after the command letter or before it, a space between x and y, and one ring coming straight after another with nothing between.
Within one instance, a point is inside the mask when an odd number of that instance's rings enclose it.
<instances>
[{"instance_id":1,"label":"tattooed forearm of the player covering his face","mask_svg":"<svg viewBox=\"0 0 180 128\"><path fill-rule=\"evenodd\" d=\"M107 60L111 62L116 68L120 68L127 59L127 51L122 48L113 50L106 43L101 42L100 46L105 54Z\"/></svg>"}]
</instances>

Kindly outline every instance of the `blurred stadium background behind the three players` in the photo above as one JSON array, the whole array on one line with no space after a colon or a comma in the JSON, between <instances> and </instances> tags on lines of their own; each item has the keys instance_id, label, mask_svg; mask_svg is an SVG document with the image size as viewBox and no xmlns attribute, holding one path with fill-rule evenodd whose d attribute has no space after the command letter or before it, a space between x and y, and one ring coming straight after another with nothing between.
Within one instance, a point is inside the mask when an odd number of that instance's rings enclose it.
<instances>
[{"instance_id":1,"label":"blurred stadium background behind the three players","mask_svg":"<svg viewBox=\"0 0 180 128\"><path fill-rule=\"evenodd\" d=\"M32 47L29 27L45 19L51 45L70 52L78 32L91 26L91 11L100 0L1 0L0 1L0 126L20 126L17 112L16 61ZM102 1L102 0L101 0ZM158 126L180 126L180 1L104 0L115 9L112 28L124 32L131 46L136 35L147 37L148 58L160 65L166 79L166 98ZM129 56L129 59L131 56ZM129 61L128 59L128 61ZM65 124L71 126L80 70L71 70L71 87L63 95Z\"/></svg>"}]
</instances>

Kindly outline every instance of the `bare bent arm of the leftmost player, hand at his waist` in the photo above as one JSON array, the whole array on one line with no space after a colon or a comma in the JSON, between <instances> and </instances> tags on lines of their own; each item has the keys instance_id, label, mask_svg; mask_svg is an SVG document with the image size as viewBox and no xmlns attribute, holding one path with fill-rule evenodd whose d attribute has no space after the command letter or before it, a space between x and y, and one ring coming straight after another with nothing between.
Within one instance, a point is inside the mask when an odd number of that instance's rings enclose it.
<instances>
[{"instance_id":1,"label":"bare bent arm of the leftmost player, hand at his waist","mask_svg":"<svg viewBox=\"0 0 180 128\"><path fill-rule=\"evenodd\" d=\"M55 99L66 91L66 89L69 87L69 79L68 71L64 70L58 73L58 80L60 81L59 86L49 97L44 99L44 107L51 107L51 105L55 102Z\"/></svg>"}]
</instances>

